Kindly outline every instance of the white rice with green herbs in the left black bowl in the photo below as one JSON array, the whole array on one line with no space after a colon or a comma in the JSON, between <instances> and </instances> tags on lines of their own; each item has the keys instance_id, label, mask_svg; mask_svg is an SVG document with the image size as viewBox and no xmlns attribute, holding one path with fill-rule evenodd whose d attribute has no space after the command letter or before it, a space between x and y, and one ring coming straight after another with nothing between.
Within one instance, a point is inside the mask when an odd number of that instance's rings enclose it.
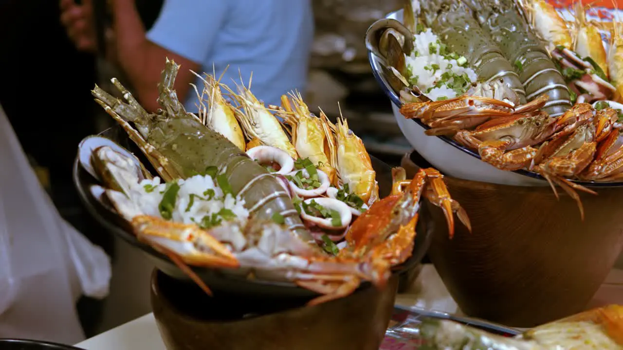
<instances>
[{"instance_id":1,"label":"white rice with green herbs in the left black bowl","mask_svg":"<svg viewBox=\"0 0 623 350\"><path fill-rule=\"evenodd\" d=\"M235 215L235 219L246 222L249 218L249 210L244 207L244 199L235 198L231 194L223 196L211 176L195 175L186 180L179 179L179 191L176 196L174 209L171 211L171 220L184 224L201 224L204 217L212 220L232 220L231 214L222 209L229 209ZM166 184L160 183L159 177L152 180L145 179L130 189L129 197L141 212L146 215L163 217L158 206L163 200ZM223 215L219 214L229 214ZM212 220L214 222L214 220Z\"/></svg>"}]
</instances>

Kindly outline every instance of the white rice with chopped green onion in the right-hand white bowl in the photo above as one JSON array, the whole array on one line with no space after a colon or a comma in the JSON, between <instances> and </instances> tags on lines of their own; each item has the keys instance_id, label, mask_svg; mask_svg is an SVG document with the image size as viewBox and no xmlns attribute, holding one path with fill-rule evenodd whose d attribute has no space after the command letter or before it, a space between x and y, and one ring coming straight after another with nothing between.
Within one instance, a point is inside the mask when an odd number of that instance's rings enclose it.
<instances>
[{"instance_id":1,"label":"white rice with chopped green onion in the right-hand white bowl","mask_svg":"<svg viewBox=\"0 0 623 350\"><path fill-rule=\"evenodd\" d=\"M464 93L477 79L467 59L449 52L430 28L414 35L414 50L406 57L409 82L433 101Z\"/></svg>"}]
</instances>

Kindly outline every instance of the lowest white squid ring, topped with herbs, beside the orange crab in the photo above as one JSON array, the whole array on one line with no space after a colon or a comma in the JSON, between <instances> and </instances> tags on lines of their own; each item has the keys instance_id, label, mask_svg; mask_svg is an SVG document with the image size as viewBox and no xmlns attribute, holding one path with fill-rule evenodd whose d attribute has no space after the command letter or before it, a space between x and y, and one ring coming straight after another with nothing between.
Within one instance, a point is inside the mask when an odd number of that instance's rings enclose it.
<instances>
[{"instance_id":1,"label":"lowest white squid ring, topped with herbs, beside the orange crab","mask_svg":"<svg viewBox=\"0 0 623 350\"><path fill-rule=\"evenodd\" d=\"M342 230L348 227L353 219L350 207L345 202L333 198L305 199L302 207L301 218L321 229Z\"/></svg>"}]
</instances>

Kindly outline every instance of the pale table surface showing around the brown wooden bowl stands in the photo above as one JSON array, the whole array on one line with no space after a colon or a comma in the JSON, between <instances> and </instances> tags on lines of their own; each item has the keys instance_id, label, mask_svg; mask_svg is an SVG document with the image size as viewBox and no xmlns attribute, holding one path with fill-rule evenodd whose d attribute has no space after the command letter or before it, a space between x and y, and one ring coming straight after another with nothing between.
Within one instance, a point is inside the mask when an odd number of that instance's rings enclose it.
<instances>
[{"instance_id":1,"label":"pale table surface showing around the brown wooden bowl stands","mask_svg":"<svg viewBox=\"0 0 623 350\"><path fill-rule=\"evenodd\" d=\"M599 288L589 308L623 305L623 270L614 269ZM460 314L435 268L426 264L407 293L396 297L396 304ZM85 350L166 350L152 313L75 344Z\"/></svg>"}]
</instances>

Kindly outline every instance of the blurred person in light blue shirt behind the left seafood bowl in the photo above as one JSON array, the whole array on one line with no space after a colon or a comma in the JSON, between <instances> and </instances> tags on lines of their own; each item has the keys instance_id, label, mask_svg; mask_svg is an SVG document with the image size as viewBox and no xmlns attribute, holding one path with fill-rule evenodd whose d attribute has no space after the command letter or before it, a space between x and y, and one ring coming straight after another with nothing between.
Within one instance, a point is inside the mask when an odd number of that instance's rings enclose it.
<instances>
[{"instance_id":1,"label":"blurred person in light blue shirt behind the left seafood bowl","mask_svg":"<svg viewBox=\"0 0 623 350\"><path fill-rule=\"evenodd\" d=\"M181 64L175 89L188 111L197 111L189 83L197 73L221 82L249 83L267 104L279 105L289 90L304 91L313 40L310 0L164 0L158 19L145 31L134 0L108 1L112 31L107 59L115 62L149 111L158 110L158 82L168 57ZM96 53L92 0L60 0L60 20L78 50ZM213 68L214 67L214 68Z\"/></svg>"}]
</instances>

